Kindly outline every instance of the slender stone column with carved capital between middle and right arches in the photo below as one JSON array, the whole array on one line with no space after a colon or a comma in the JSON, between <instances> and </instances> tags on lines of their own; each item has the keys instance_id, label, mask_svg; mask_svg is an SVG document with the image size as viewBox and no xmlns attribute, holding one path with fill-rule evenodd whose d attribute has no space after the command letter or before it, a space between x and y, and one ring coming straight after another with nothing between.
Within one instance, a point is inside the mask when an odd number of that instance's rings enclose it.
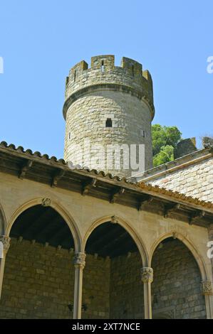
<instances>
[{"instance_id":1,"label":"slender stone column with carved capital between middle and right arches","mask_svg":"<svg viewBox=\"0 0 213 334\"><path fill-rule=\"evenodd\" d=\"M144 287L145 319L152 319L151 283L153 281L153 269L147 266L143 267L141 269L141 279Z\"/></svg>"}]
</instances>

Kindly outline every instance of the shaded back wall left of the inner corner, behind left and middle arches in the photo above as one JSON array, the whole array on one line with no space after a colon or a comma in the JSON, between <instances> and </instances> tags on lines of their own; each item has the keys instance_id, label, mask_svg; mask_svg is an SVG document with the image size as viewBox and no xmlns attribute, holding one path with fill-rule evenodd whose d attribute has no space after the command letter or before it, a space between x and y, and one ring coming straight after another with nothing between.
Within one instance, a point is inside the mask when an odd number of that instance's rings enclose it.
<instances>
[{"instance_id":1,"label":"shaded back wall left of the inner corner, behind left and middle arches","mask_svg":"<svg viewBox=\"0 0 213 334\"><path fill-rule=\"evenodd\" d=\"M83 303L88 305L88 310L83 317L106 317L108 304L104 295L108 296L109 281L105 268L107 270L108 264L105 266L104 260L90 255L87 264L90 269L84 273ZM68 304L73 303L73 291L73 253L26 240L11 240L6 256L0 318L73 318L68 308ZM94 301L90 299L92 294Z\"/></svg>"}]
</instances>

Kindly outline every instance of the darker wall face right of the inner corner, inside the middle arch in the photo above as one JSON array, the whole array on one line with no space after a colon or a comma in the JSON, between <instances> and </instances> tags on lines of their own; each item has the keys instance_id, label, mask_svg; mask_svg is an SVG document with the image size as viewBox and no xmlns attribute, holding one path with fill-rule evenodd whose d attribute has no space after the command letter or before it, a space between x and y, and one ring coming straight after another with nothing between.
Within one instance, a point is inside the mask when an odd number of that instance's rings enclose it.
<instances>
[{"instance_id":1,"label":"darker wall face right of the inner corner, inside the middle arch","mask_svg":"<svg viewBox=\"0 0 213 334\"><path fill-rule=\"evenodd\" d=\"M144 318L140 254L111 260L110 319Z\"/></svg>"}]
</instances>

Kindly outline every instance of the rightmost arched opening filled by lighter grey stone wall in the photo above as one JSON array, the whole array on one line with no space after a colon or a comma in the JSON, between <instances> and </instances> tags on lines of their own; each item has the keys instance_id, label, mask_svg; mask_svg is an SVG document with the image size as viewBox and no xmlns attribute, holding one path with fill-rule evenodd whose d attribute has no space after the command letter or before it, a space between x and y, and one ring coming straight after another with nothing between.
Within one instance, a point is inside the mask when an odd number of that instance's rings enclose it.
<instances>
[{"instance_id":1,"label":"rightmost arched opening filled by lighter grey stone wall","mask_svg":"<svg viewBox=\"0 0 213 334\"><path fill-rule=\"evenodd\" d=\"M201 272L192 252L167 237L152 257L152 318L206 318Z\"/></svg>"}]
</instances>

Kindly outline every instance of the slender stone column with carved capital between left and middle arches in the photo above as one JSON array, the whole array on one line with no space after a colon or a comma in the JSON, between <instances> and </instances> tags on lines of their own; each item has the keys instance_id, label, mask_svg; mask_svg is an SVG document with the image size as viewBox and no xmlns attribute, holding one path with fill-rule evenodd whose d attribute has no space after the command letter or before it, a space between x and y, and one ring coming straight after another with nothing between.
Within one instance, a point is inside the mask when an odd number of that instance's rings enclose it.
<instances>
[{"instance_id":1,"label":"slender stone column with carved capital between left and middle arches","mask_svg":"<svg viewBox=\"0 0 213 334\"><path fill-rule=\"evenodd\" d=\"M76 253L74 257L75 266L75 288L74 288L74 303L73 303L73 319L81 318L82 306L82 284L83 284L83 269L85 267L85 253Z\"/></svg>"}]
</instances>

